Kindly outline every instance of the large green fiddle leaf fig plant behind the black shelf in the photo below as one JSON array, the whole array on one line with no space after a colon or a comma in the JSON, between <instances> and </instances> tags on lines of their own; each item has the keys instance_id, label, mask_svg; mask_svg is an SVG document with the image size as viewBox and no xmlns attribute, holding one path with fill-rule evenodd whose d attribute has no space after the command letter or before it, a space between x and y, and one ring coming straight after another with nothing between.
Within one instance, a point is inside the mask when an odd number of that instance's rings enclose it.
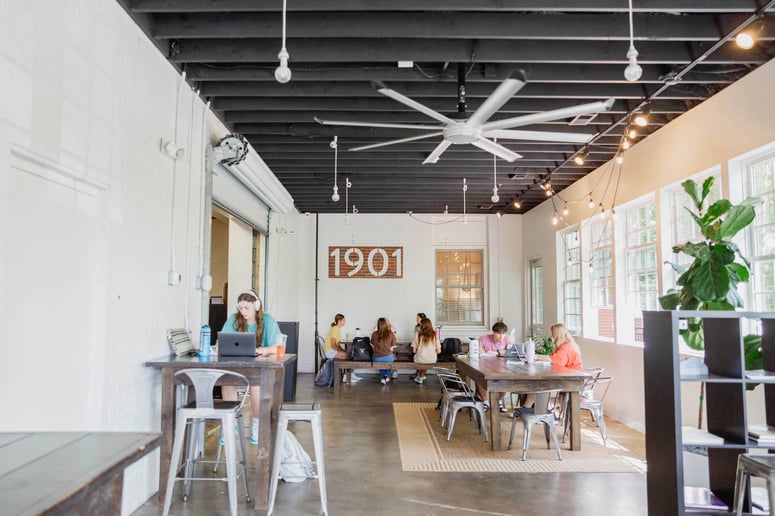
<instances>
[{"instance_id":1,"label":"large green fiddle leaf fig plant behind the black shelf","mask_svg":"<svg viewBox=\"0 0 775 516\"><path fill-rule=\"evenodd\" d=\"M696 210L686 208L699 227L702 240L673 246L674 253L686 254L693 261L688 267L667 262L679 276L676 287L659 298L665 310L734 310L743 306L737 285L748 281L751 264L732 239L753 222L760 200L749 197L740 204L732 204L719 199L706 208L713 182L711 176L701 187L691 179L681 183ZM681 330L684 341L690 348L703 349L702 322L687 322L687 329ZM748 357L748 346L746 351ZM750 353L752 360L754 355Z\"/></svg>"}]
</instances>

